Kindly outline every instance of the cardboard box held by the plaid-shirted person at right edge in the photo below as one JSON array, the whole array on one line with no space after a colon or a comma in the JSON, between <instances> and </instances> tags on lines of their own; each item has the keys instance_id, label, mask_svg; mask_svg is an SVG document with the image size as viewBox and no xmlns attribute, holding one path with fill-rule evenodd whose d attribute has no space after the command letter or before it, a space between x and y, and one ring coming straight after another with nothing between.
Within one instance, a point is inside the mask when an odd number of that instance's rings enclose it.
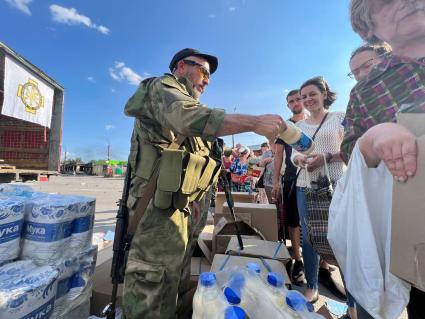
<instances>
[{"instance_id":1,"label":"cardboard box held by the plaid-shirted person at right edge","mask_svg":"<svg viewBox=\"0 0 425 319\"><path fill-rule=\"evenodd\" d=\"M425 114L398 114L397 122L417 138L416 174L394 183L390 271L425 291Z\"/></svg>"}]
</instances>

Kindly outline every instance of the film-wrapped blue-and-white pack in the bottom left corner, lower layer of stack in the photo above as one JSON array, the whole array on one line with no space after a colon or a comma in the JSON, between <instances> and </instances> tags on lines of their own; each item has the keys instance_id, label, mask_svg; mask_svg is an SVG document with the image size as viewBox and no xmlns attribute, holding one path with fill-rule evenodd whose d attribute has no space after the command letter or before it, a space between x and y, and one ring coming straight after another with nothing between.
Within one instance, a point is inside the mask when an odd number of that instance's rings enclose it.
<instances>
[{"instance_id":1,"label":"film-wrapped blue-and-white pack in the bottom left corner, lower layer of stack","mask_svg":"<svg viewBox=\"0 0 425 319\"><path fill-rule=\"evenodd\" d=\"M58 271L21 260L0 267L0 319L52 318Z\"/></svg>"}]
</instances>

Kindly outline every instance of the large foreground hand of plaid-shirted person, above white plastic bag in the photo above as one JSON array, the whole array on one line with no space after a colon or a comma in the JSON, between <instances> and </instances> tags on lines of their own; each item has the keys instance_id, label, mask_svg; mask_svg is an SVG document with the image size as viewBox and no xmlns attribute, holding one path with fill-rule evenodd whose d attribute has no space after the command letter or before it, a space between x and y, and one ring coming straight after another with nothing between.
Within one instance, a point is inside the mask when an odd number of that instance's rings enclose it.
<instances>
[{"instance_id":1,"label":"large foreground hand of plaid-shirted person, above white plastic bag","mask_svg":"<svg viewBox=\"0 0 425 319\"><path fill-rule=\"evenodd\" d=\"M399 182L405 182L416 173L416 136L404 126L376 125L359 139L359 148L369 167L376 167L382 160Z\"/></svg>"}]
</instances>

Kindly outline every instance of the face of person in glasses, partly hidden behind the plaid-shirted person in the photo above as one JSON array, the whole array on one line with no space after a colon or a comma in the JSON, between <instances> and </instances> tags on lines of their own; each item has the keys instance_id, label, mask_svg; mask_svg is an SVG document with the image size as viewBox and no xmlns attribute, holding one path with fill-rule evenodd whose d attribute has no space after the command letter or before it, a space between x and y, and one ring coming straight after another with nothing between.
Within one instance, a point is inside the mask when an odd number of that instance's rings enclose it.
<instances>
[{"instance_id":1,"label":"face of person in glasses, partly hidden behind the plaid-shirted person","mask_svg":"<svg viewBox=\"0 0 425 319\"><path fill-rule=\"evenodd\" d=\"M391 53L391 47L386 43L366 43L354 50L350 57L351 72L348 76L360 81L369 74L372 68Z\"/></svg>"}]
</instances>

